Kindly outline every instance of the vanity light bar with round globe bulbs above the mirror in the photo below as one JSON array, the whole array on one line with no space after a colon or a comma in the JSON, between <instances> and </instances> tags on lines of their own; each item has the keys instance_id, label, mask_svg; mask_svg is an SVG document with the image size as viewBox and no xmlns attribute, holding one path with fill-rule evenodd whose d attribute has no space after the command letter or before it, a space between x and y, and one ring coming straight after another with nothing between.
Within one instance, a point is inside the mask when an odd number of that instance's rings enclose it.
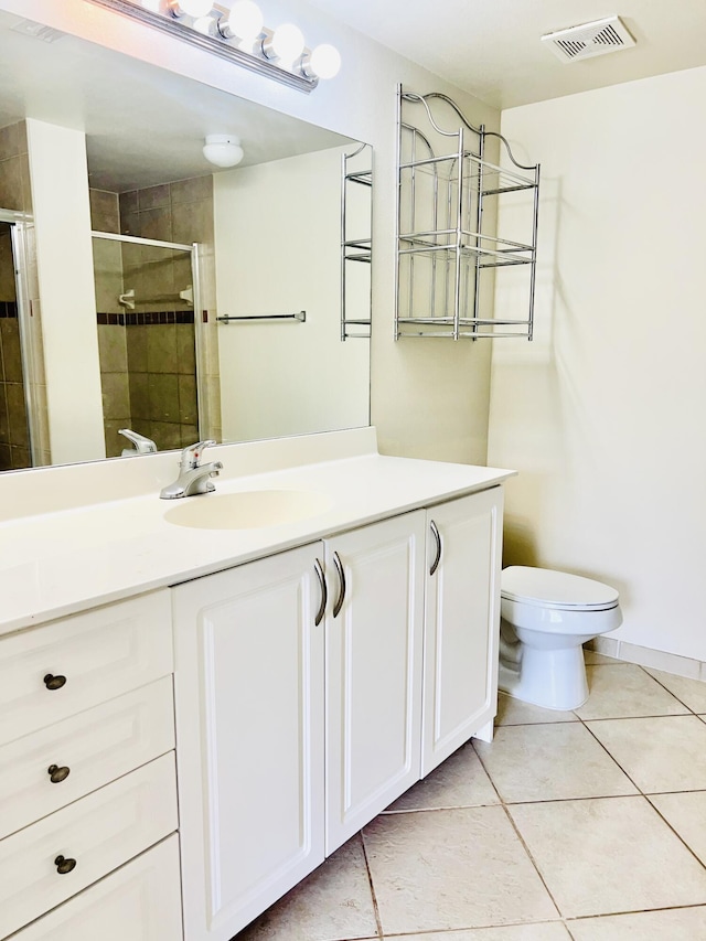
<instances>
[{"instance_id":1,"label":"vanity light bar with round globe bulbs above the mirror","mask_svg":"<svg viewBox=\"0 0 706 941\"><path fill-rule=\"evenodd\" d=\"M265 26L253 0L235 0L231 8L212 0L86 2L107 7L300 92L311 92L320 78L333 78L341 67L334 46L322 43L307 49L301 30L293 23L275 30Z\"/></svg>"}]
</instances>

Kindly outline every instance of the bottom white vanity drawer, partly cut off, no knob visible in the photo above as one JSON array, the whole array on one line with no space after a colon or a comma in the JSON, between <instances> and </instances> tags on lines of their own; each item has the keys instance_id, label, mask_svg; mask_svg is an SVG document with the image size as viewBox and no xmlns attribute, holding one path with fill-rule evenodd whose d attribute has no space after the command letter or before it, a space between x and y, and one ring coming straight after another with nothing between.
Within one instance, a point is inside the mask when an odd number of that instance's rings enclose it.
<instances>
[{"instance_id":1,"label":"bottom white vanity drawer, partly cut off, no knob visible","mask_svg":"<svg viewBox=\"0 0 706 941\"><path fill-rule=\"evenodd\" d=\"M12 941L182 941L179 838L169 836Z\"/></svg>"}]
</instances>

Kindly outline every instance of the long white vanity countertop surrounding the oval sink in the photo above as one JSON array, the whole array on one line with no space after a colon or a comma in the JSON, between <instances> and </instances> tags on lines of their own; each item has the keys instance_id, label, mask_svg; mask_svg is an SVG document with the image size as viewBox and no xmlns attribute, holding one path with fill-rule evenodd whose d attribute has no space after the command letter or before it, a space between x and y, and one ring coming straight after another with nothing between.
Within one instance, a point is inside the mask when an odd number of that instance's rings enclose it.
<instances>
[{"instance_id":1,"label":"long white vanity countertop surrounding the oval sink","mask_svg":"<svg viewBox=\"0 0 706 941\"><path fill-rule=\"evenodd\" d=\"M307 491L319 495L321 512L257 528L193 528L164 516L185 500L213 495L160 500L156 489L1 522L0 634L485 490L514 473L368 452L228 478L227 448L213 453L226 464L224 477L214 481L215 495Z\"/></svg>"}]
</instances>

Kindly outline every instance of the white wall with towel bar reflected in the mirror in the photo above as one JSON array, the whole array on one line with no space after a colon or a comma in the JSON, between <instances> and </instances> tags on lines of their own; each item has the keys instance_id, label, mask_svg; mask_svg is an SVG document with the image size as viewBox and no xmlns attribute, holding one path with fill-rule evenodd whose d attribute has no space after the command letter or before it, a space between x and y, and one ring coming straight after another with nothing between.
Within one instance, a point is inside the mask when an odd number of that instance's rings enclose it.
<instances>
[{"instance_id":1,"label":"white wall with towel bar reflected in the mirror","mask_svg":"<svg viewBox=\"0 0 706 941\"><path fill-rule=\"evenodd\" d=\"M370 343L340 339L342 153L214 174L218 314L307 318L218 328L225 441L368 424Z\"/></svg>"}]
</instances>

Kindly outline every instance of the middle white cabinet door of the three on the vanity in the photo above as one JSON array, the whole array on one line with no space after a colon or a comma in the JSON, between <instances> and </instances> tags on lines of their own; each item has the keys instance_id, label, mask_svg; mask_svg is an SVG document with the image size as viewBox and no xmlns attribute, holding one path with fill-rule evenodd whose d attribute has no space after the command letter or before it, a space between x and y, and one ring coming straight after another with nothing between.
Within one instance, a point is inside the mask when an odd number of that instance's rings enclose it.
<instances>
[{"instance_id":1,"label":"middle white cabinet door of the three on the vanity","mask_svg":"<svg viewBox=\"0 0 706 941\"><path fill-rule=\"evenodd\" d=\"M419 777L425 526L417 511L327 542L327 855Z\"/></svg>"}]
</instances>

